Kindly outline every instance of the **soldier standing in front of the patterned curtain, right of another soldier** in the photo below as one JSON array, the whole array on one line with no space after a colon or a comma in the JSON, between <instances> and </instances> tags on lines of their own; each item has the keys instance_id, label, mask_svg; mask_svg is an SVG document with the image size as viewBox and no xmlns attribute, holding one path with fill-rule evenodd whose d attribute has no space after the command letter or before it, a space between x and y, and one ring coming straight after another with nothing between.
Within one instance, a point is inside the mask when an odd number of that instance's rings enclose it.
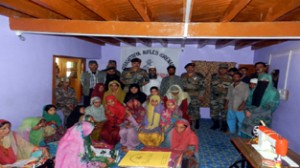
<instances>
[{"instance_id":1,"label":"soldier standing in front of the patterned curtain, right of another soldier","mask_svg":"<svg viewBox=\"0 0 300 168\"><path fill-rule=\"evenodd\" d=\"M228 65L225 63L220 64L219 72L213 74L211 77L210 117L213 125L210 128L213 130L220 128L221 119L221 131L227 131L227 110L224 108L224 105L231 82L232 79L228 75Z\"/></svg>"}]
</instances>

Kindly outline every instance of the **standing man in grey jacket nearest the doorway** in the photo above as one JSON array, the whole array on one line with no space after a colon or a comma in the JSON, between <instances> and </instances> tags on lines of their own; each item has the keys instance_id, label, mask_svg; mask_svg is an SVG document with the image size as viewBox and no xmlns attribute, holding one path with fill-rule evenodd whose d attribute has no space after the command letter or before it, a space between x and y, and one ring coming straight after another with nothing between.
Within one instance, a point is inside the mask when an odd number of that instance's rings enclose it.
<instances>
[{"instance_id":1,"label":"standing man in grey jacket nearest the doorway","mask_svg":"<svg viewBox=\"0 0 300 168\"><path fill-rule=\"evenodd\" d=\"M93 92L95 85L97 83L104 83L105 77L105 72L98 71L98 63L95 60L89 61L89 70L83 72L80 77L84 106L87 107L90 105L90 95Z\"/></svg>"}]
</instances>

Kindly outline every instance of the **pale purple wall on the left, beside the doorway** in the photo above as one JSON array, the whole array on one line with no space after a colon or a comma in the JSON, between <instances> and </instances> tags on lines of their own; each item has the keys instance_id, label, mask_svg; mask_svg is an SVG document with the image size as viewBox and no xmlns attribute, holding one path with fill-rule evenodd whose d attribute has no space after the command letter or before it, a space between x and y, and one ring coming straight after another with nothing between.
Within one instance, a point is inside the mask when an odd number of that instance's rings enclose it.
<instances>
[{"instance_id":1,"label":"pale purple wall on the left, beside the doorway","mask_svg":"<svg viewBox=\"0 0 300 168\"><path fill-rule=\"evenodd\" d=\"M53 55L100 58L101 47L72 37L24 34L20 41L0 16L0 118L16 129L27 116L40 116L52 101Z\"/></svg>"}]
</instances>

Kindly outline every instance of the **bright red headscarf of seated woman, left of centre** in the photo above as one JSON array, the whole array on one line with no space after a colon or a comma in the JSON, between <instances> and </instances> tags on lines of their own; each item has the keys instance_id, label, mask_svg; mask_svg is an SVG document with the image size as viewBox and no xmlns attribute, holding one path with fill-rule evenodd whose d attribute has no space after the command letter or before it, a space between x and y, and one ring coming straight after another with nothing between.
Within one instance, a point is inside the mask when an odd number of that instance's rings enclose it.
<instances>
[{"instance_id":1,"label":"bright red headscarf of seated woman, left of centre","mask_svg":"<svg viewBox=\"0 0 300 168\"><path fill-rule=\"evenodd\" d=\"M117 119L117 124L121 124L125 118L125 107L118 101L118 99L113 95L108 95L105 98L106 103L109 100L113 100L115 104L110 106L107 104L107 110L109 110L113 115L106 115L107 119L110 121L114 121Z\"/></svg>"}]
</instances>

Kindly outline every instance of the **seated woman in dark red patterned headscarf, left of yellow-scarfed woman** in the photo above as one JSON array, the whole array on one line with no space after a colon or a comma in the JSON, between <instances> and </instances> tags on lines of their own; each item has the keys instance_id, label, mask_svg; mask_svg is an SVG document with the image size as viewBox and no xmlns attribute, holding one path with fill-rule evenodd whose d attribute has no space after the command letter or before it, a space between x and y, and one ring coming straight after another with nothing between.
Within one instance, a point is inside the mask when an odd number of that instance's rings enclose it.
<instances>
[{"instance_id":1,"label":"seated woman in dark red patterned headscarf, left of yellow-scarfed woman","mask_svg":"<svg viewBox=\"0 0 300 168\"><path fill-rule=\"evenodd\" d=\"M126 119L120 129L120 143L123 150L132 150L140 144L137 129L145 117L146 109L138 100L131 99L126 103L126 114Z\"/></svg>"}]
</instances>

